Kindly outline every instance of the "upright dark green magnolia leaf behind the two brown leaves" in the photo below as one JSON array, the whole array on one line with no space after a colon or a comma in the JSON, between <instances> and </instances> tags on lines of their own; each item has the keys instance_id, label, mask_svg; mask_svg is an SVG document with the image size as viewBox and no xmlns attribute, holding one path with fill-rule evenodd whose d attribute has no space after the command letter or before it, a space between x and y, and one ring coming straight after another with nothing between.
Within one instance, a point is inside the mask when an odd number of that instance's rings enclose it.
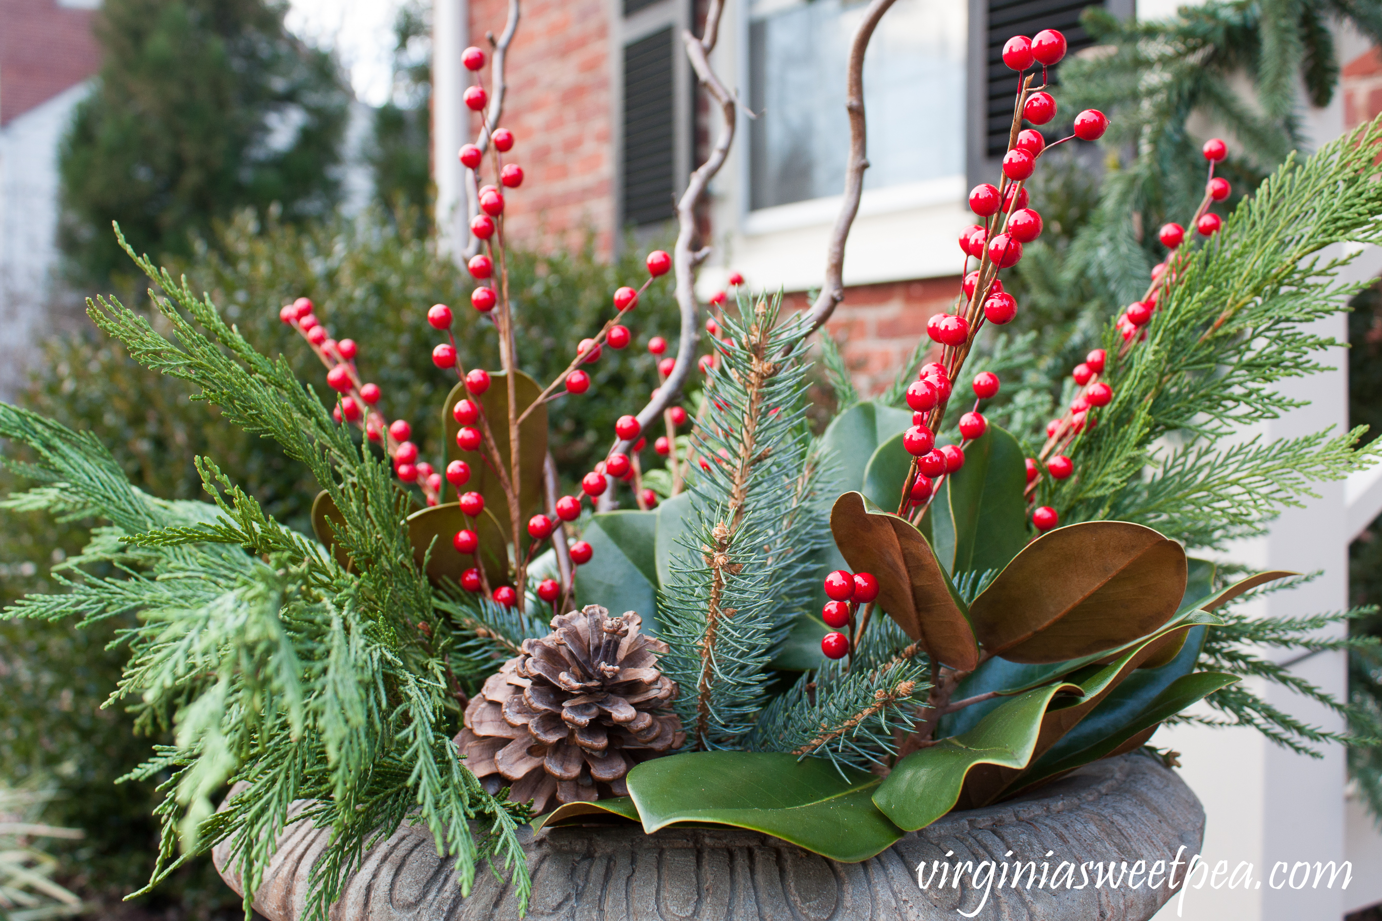
<instances>
[{"instance_id":1,"label":"upright dark green magnolia leaf behind the two brown leaves","mask_svg":"<svg viewBox=\"0 0 1382 921\"><path fill-rule=\"evenodd\" d=\"M965 465L941 481L927 510L931 545L945 572L954 577L999 570L1021 552L1027 545L1025 487L1021 446L998 425L990 425L965 449Z\"/></svg>"}]
</instances>

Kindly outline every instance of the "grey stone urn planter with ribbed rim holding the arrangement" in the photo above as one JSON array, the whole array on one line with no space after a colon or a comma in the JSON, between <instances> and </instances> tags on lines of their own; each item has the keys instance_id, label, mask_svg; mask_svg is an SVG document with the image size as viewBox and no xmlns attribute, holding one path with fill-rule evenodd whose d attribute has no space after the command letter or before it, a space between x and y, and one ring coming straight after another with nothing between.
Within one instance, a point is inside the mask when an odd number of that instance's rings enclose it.
<instances>
[{"instance_id":1,"label":"grey stone urn planter with ribbed rim holding the arrangement","mask_svg":"<svg viewBox=\"0 0 1382 921\"><path fill-rule=\"evenodd\" d=\"M294 804L296 809L304 806ZM983 910L972 917L1003 921L1144 921L1173 891L1137 888L1124 878L1117 888L1096 888L1095 871L1082 888L1053 885L1060 862L1142 860L1151 869L1180 853L1189 860L1204 835L1204 809L1194 793L1159 761L1140 753L1086 765L1039 791L1007 802L955 812L905 835L864 863L835 863L768 835L728 827L665 828L647 835L637 826L546 828L524 841L533 892L533 921L716 921L804 918L810 921L897 921L956 918L974 913L985 898L984 874L974 884L966 870L954 886L954 866L985 860L1036 862L1036 884L999 889L998 877ZM254 898L271 921L296 921L307 900L307 877L328 831L293 826L279 838L278 853ZM223 878L242 892L227 870L229 848L213 852ZM1006 856L1012 852L1012 856ZM1052 855L1048 857L1048 852ZM940 885L937 862L951 867ZM1042 864L1049 874L1042 884ZM925 864L919 885L918 866ZM1025 863L1024 863L1025 866ZM1182 864L1176 881L1184 875ZM376 845L332 921L498 921L518 917L513 891L486 867L475 873L462 898L449 862L437 856L422 826L402 827Z\"/></svg>"}]
</instances>

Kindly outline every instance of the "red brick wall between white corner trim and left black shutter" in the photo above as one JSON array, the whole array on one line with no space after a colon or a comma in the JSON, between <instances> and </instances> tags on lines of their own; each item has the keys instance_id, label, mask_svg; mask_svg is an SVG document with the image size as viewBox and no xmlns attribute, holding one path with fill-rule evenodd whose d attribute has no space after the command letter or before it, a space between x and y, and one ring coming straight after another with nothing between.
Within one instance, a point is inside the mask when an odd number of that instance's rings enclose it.
<instances>
[{"instance_id":1,"label":"red brick wall between white corner trim and left black shutter","mask_svg":"<svg viewBox=\"0 0 1382 921\"><path fill-rule=\"evenodd\" d=\"M504 0L471 0L471 44L504 26ZM503 124L515 137L509 159L524 184L504 214L511 239L554 249L597 233L614 251L615 148L609 14L604 0L528 0L509 50ZM485 70L488 75L488 70ZM471 117L473 131L480 117Z\"/></svg>"}]
</instances>

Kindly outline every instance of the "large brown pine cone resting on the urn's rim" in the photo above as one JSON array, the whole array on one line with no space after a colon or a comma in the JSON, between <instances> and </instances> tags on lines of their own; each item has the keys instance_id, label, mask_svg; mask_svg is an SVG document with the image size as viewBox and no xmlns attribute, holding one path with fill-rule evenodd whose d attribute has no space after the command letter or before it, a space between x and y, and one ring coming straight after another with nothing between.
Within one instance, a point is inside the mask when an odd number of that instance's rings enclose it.
<instances>
[{"instance_id":1,"label":"large brown pine cone resting on the urn's rim","mask_svg":"<svg viewBox=\"0 0 1382 921\"><path fill-rule=\"evenodd\" d=\"M656 670L668 645L638 632L632 610L600 605L551 619L553 632L485 681L456 736L466 766L509 798L553 802L623 797L629 768L681 747L681 719L666 710L677 685ZM655 655L656 653L656 655Z\"/></svg>"}]
</instances>

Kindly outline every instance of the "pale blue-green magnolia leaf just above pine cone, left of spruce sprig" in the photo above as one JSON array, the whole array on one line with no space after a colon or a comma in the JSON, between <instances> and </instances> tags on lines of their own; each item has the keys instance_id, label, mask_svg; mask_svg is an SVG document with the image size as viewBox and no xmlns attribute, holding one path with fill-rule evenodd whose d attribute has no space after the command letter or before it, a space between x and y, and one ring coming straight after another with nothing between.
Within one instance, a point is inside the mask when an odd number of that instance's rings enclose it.
<instances>
[{"instance_id":1,"label":"pale blue-green magnolia leaf just above pine cone, left of spruce sprig","mask_svg":"<svg viewBox=\"0 0 1382 921\"><path fill-rule=\"evenodd\" d=\"M634 610L656 632L658 565L654 544L658 512L616 511L591 516L580 537L590 562L576 579L576 605L603 605L612 614Z\"/></svg>"}]
</instances>

